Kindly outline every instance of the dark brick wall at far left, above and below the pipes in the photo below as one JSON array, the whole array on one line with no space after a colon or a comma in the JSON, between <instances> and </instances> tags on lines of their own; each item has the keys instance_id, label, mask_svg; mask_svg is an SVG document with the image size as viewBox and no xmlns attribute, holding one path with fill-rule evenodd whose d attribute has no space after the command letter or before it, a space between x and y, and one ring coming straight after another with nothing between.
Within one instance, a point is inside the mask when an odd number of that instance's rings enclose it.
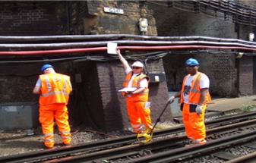
<instances>
[{"instance_id":1,"label":"dark brick wall at far left, above and below the pipes","mask_svg":"<svg viewBox=\"0 0 256 163\"><path fill-rule=\"evenodd\" d=\"M55 2L1 2L1 6L0 35L56 34ZM15 56L8 57L15 58ZM33 95L32 91L42 65L42 63L1 64L0 102L37 101L38 96Z\"/></svg>"}]
</instances>

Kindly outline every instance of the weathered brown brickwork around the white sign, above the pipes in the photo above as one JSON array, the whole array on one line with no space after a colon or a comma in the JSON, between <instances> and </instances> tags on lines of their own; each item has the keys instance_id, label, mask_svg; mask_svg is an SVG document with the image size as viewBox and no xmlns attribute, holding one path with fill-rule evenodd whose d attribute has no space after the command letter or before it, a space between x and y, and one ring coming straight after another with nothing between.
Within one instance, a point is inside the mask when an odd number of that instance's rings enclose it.
<instances>
[{"instance_id":1,"label":"weathered brown brickwork around the white sign, above the pipes","mask_svg":"<svg viewBox=\"0 0 256 163\"><path fill-rule=\"evenodd\" d=\"M90 31L100 34L140 34L137 22L140 18L147 18L149 26L146 34L157 35L153 11L143 2L89 1L87 5L89 14L84 19L85 34ZM104 7L121 8L124 14L104 12Z\"/></svg>"}]
</instances>

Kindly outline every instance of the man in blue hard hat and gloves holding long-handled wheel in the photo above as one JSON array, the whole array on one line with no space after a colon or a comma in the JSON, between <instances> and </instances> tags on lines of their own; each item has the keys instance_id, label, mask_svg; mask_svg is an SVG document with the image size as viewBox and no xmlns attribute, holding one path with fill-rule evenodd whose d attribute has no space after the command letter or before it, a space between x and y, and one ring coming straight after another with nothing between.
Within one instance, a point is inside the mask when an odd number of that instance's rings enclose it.
<instances>
[{"instance_id":1,"label":"man in blue hard hat and gloves holding long-handled wheel","mask_svg":"<svg viewBox=\"0 0 256 163\"><path fill-rule=\"evenodd\" d=\"M205 143L204 113L207 102L210 102L210 81L207 75L198 71L199 63L194 58L185 62L188 75L184 77L182 90L168 99L173 102L180 97L185 131L191 143Z\"/></svg>"}]
</instances>

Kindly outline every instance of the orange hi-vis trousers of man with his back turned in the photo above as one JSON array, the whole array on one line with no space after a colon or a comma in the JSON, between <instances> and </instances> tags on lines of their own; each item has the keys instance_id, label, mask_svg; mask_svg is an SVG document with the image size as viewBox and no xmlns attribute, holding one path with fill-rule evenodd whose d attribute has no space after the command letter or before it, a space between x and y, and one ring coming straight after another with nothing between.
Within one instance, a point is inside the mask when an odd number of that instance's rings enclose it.
<instances>
[{"instance_id":1,"label":"orange hi-vis trousers of man with his back turned","mask_svg":"<svg viewBox=\"0 0 256 163\"><path fill-rule=\"evenodd\" d=\"M45 146L54 146L54 119L58 126L58 131L62 136L62 143L71 143L71 129L68 123L68 108L65 103L55 103L51 105L40 105L40 123L44 134Z\"/></svg>"}]
</instances>

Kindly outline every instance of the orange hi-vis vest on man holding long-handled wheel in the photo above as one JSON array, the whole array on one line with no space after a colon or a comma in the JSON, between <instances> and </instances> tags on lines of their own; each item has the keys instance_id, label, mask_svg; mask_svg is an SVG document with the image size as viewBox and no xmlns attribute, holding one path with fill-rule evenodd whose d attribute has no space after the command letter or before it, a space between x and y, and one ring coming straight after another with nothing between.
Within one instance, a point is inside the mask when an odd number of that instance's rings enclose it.
<instances>
[{"instance_id":1,"label":"orange hi-vis vest on man holding long-handled wheel","mask_svg":"<svg viewBox=\"0 0 256 163\"><path fill-rule=\"evenodd\" d=\"M185 89L185 86L184 86L185 80L187 79L187 77L189 75L190 74L188 74L186 77L184 77L183 84L182 84L182 93L184 92L184 89ZM201 97L201 90L200 90L199 82L200 82L202 75L203 75L203 73L198 72L198 74L195 75L194 80L192 80L191 89L190 89L189 96L188 96L188 102L191 102L193 104L198 104L200 97ZM208 92L207 97L204 100L204 105L210 101L211 101L210 93ZM181 96L181 103L183 103L183 102L184 102L184 99L183 99L183 96Z\"/></svg>"}]
</instances>

